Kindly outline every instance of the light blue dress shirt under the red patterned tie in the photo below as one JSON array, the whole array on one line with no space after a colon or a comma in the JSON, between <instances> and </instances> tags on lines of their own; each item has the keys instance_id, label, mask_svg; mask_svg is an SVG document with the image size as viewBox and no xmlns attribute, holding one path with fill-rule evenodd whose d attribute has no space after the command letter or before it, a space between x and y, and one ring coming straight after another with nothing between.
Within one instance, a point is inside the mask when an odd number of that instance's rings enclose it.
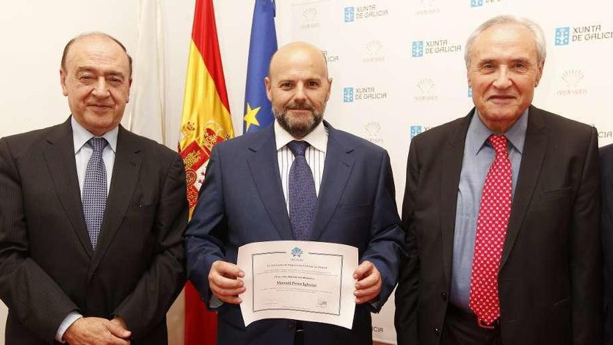
<instances>
[{"instance_id":1,"label":"light blue dress shirt under the red patterned tie","mask_svg":"<svg viewBox=\"0 0 613 345\"><path fill-rule=\"evenodd\" d=\"M522 161L526 128L528 126L528 110L518 118L509 130L504 133L509 148L509 158L513 174L513 196L517 185L518 173ZM488 143L490 135L495 134L483 124L475 109L466 134L464 158L460 183L458 185L458 201L456 204L456 228L453 234L453 263L451 266L450 301L470 310L470 275L472 273L472 258L474 254L474 238L476 235L476 220L479 217L479 204L483 184L490 165L494 162L495 151ZM513 206L511 206L511 210Z\"/></svg>"}]
</instances>

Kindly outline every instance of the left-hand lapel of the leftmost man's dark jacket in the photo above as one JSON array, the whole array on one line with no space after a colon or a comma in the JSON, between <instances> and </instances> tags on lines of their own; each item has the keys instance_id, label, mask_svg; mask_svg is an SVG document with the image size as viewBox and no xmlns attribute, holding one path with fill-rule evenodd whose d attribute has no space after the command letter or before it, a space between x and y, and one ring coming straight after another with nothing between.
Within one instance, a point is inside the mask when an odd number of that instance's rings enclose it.
<instances>
[{"instance_id":1,"label":"left-hand lapel of the leftmost man's dark jacket","mask_svg":"<svg viewBox=\"0 0 613 345\"><path fill-rule=\"evenodd\" d=\"M46 144L45 161L60 203L83 249L91 257L93 248L83 217L70 118L49 132Z\"/></svg>"}]
</instances>

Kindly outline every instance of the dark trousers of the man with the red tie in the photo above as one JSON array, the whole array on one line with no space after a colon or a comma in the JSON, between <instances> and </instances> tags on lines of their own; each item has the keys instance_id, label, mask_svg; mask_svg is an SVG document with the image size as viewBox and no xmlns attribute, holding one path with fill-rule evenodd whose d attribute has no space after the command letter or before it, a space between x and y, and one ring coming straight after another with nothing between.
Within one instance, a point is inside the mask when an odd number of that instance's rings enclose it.
<instances>
[{"instance_id":1,"label":"dark trousers of the man with the red tie","mask_svg":"<svg viewBox=\"0 0 613 345\"><path fill-rule=\"evenodd\" d=\"M449 304L440 345L502 345L500 328L481 328L472 312Z\"/></svg>"}]
</instances>

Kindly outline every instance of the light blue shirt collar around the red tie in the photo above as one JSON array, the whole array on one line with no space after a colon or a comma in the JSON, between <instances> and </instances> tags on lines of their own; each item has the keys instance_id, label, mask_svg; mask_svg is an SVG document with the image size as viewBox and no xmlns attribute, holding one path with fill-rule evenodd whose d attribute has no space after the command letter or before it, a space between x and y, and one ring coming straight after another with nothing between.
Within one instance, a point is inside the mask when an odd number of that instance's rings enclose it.
<instances>
[{"instance_id":1,"label":"light blue shirt collar around the red tie","mask_svg":"<svg viewBox=\"0 0 613 345\"><path fill-rule=\"evenodd\" d=\"M511 143L511 145L517 150L519 153L523 153L524 151L524 142L526 141L526 130L528 128L528 109L526 109L523 114L518 118L515 123L504 132L504 136L506 140ZM468 127L468 132L473 136L474 140L472 140L472 151L474 155L477 155L484 144L486 144L486 140L490 137L490 135L495 134L486 125L483 124L481 118L479 117L479 111L475 108L474 115L470 121L470 125Z\"/></svg>"}]
</instances>

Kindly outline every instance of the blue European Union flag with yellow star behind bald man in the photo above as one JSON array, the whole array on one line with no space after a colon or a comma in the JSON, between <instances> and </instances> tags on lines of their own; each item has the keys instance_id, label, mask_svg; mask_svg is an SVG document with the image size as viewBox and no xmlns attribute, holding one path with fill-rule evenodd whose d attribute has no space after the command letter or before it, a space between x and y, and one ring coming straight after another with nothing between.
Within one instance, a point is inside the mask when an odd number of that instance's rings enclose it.
<instances>
[{"instance_id":1,"label":"blue European Union flag with yellow star behind bald man","mask_svg":"<svg viewBox=\"0 0 613 345\"><path fill-rule=\"evenodd\" d=\"M242 132L261 130L274 120L270 101L266 97L264 78L268 64L277 52L277 31L274 29L274 0L256 0L251 24L247 84L245 86L245 117Z\"/></svg>"}]
</instances>

